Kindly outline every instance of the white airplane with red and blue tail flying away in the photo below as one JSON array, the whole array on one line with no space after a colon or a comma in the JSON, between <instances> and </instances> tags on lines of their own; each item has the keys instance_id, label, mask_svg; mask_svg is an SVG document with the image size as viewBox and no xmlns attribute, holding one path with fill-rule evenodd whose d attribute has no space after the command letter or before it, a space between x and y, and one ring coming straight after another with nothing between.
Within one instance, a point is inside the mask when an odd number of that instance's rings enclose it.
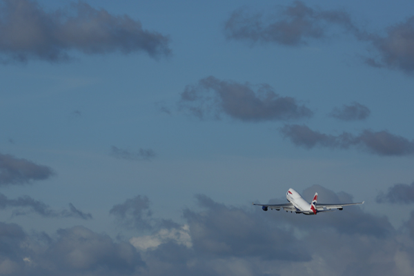
<instances>
[{"instance_id":1,"label":"white airplane with red and blue tail flying away","mask_svg":"<svg viewBox=\"0 0 414 276\"><path fill-rule=\"evenodd\" d=\"M304 215L316 215L317 213L321 212L333 212L331 209L338 209L342 210L344 206L350 205L357 205L357 204L364 204L365 201L359 203L345 203L345 204L316 204L317 202L317 193L313 197L311 204L308 203L305 199L302 198L302 195L297 193L297 191L290 188L286 193L286 199L288 199L289 203L286 204L255 204L253 205L262 206L264 211L267 211L268 208L271 210L286 210L286 212L290 211L290 213L295 212L297 214L304 214Z\"/></svg>"}]
</instances>

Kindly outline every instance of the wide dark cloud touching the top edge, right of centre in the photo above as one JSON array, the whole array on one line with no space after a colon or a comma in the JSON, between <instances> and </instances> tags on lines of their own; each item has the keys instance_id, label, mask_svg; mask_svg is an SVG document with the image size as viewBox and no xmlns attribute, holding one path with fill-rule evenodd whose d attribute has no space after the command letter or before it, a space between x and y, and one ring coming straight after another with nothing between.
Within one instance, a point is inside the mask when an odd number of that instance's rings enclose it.
<instances>
[{"instance_id":1,"label":"wide dark cloud touching the top edge, right of centre","mask_svg":"<svg viewBox=\"0 0 414 276\"><path fill-rule=\"evenodd\" d=\"M294 1L265 16L250 14L245 9L235 10L226 21L228 39L245 40L250 43L277 43L285 46L306 44L308 39L327 37L329 26L341 26L344 30L359 34L348 13L340 10L319 11Z\"/></svg>"}]
</instances>

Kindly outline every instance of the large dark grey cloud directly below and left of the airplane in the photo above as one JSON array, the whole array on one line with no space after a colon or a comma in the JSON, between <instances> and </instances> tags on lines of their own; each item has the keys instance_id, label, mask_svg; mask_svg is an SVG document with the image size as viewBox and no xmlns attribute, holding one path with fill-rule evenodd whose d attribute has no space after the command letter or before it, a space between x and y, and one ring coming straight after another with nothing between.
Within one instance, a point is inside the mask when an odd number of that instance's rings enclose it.
<instances>
[{"instance_id":1,"label":"large dark grey cloud directly below and left of the airplane","mask_svg":"<svg viewBox=\"0 0 414 276\"><path fill-rule=\"evenodd\" d=\"M205 195L197 195L197 201L206 209L204 212L184 210L195 250L216 257L234 255L296 262L311 260L311 254L299 246L293 233L277 227L277 224L240 208L219 204ZM272 231L263 235L263 229Z\"/></svg>"}]
</instances>

